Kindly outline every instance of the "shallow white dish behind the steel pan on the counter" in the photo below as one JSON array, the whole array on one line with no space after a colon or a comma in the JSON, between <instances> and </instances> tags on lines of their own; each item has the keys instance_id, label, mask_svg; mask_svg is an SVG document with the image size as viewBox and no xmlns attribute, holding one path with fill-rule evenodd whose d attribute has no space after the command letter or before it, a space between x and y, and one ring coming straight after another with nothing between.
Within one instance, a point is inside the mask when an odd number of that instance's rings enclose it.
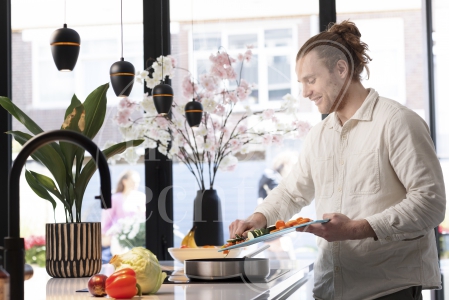
<instances>
[{"instance_id":1,"label":"shallow white dish behind the steel pan on the counter","mask_svg":"<svg viewBox=\"0 0 449 300\"><path fill-rule=\"evenodd\" d=\"M168 248L173 259L183 263L186 259L201 259L201 258L223 258L226 255L218 252L220 247L215 248ZM229 252L227 258L235 258L240 255L242 249L235 249Z\"/></svg>"}]
</instances>

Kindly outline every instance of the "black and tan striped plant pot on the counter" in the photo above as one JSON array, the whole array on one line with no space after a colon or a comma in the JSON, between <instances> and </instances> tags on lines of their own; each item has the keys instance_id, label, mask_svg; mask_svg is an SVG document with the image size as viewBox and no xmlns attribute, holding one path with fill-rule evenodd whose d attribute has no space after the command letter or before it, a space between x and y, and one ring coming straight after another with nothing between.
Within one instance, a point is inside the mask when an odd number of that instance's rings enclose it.
<instances>
[{"instance_id":1,"label":"black and tan striped plant pot on the counter","mask_svg":"<svg viewBox=\"0 0 449 300\"><path fill-rule=\"evenodd\" d=\"M46 268L51 277L89 277L101 270L101 223L46 224Z\"/></svg>"}]
</instances>

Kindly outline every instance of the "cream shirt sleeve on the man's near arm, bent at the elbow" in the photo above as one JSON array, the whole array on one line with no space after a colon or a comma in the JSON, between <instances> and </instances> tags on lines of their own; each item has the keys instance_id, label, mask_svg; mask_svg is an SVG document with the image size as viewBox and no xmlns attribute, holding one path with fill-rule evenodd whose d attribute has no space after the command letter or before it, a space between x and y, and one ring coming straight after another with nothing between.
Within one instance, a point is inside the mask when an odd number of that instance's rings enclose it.
<instances>
[{"instance_id":1,"label":"cream shirt sleeve on the man's near arm, bent at the elbow","mask_svg":"<svg viewBox=\"0 0 449 300\"><path fill-rule=\"evenodd\" d=\"M406 198L367 217L381 243L413 240L444 219L443 173L429 129L410 110L398 110L387 124L385 142L390 164L406 190Z\"/></svg>"}]
</instances>

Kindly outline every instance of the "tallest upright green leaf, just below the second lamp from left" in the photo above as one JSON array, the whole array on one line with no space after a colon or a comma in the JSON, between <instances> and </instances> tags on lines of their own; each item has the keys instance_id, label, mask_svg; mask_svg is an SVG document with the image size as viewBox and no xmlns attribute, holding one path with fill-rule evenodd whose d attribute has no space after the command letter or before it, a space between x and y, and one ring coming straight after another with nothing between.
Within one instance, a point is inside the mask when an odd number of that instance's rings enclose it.
<instances>
[{"instance_id":1,"label":"tallest upright green leaf, just below the second lamp from left","mask_svg":"<svg viewBox=\"0 0 449 300\"><path fill-rule=\"evenodd\" d=\"M86 110L84 134L93 139L97 135L106 115L106 92L109 83L99 86L84 101Z\"/></svg>"}]
</instances>

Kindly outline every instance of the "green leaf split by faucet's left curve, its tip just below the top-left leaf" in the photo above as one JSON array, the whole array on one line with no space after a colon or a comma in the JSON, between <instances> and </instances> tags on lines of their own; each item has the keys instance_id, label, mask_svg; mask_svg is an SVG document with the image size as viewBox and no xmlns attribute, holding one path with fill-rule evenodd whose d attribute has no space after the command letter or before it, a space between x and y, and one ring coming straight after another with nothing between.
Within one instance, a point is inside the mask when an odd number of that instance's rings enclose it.
<instances>
[{"instance_id":1,"label":"green leaf split by faucet's left curve, its tip just below the top-left leaf","mask_svg":"<svg viewBox=\"0 0 449 300\"><path fill-rule=\"evenodd\" d=\"M31 135L21 131L8 131L7 133L11 134L21 145L24 145L30 138L32 138ZM67 188L66 168L59 153L50 145L44 145L34 151L34 153L31 154L31 157L47 167L56 179L61 194L65 195L65 190Z\"/></svg>"}]
</instances>

